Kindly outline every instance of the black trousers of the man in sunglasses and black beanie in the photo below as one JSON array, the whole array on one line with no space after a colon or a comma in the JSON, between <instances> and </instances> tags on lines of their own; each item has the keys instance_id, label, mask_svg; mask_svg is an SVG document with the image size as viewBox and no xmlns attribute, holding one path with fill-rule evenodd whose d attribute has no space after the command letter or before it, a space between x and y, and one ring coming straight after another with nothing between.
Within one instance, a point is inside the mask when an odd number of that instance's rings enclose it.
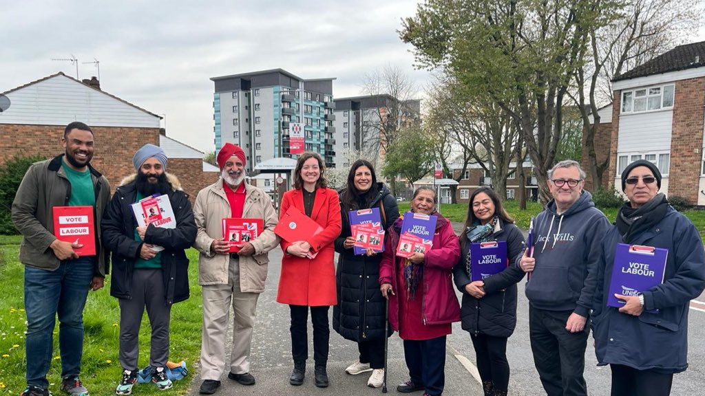
<instances>
[{"instance_id":1,"label":"black trousers of the man in sunglasses and black beanie","mask_svg":"<svg viewBox=\"0 0 705 396\"><path fill-rule=\"evenodd\" d=\"M621 364L610 364L612 396L668 396L673 374L654 370L637 370Z\"/></svg>"}]
</instances>

